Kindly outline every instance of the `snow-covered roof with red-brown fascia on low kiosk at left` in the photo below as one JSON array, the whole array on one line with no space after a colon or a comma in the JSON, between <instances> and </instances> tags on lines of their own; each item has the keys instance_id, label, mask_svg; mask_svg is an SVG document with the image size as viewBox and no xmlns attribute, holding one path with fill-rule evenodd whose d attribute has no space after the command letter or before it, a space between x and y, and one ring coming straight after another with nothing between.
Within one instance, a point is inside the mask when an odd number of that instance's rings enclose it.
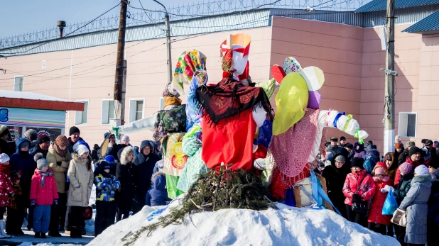
<instances>
[{"instance_id":1,"label":"snow-covered roof with red-brown fascia on low kiosk at left","mask_svg":"<svg viewBox=\"0 0 439 246\"><path fill-rule=\"evenodd\" d=\"M84 103L58 99L33 92L0 90L0 106L9 108L33 108L52 111L83 111Z\"/></svg>"}]
</instances>

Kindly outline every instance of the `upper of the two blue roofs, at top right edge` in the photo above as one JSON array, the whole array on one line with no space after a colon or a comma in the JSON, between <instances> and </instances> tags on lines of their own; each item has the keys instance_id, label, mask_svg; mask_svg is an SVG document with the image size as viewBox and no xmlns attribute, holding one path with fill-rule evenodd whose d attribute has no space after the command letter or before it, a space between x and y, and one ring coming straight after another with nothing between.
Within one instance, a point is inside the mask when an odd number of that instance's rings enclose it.
<instances>
[{"instance_id":1,"label":"upper of the two blue roofs, at top right edge","mask_svg":"<svg viewBox=\"0 0 439 246\"><path fill-rule=\"evenodd\" d=\"M395 9L410 8L416 6L428 6L439 4L439 0L395 0ZM385 10L387 6L386 0L374 0L364 6L359 7L354 12L371 12Z\"/></svg>"}]
</instances>

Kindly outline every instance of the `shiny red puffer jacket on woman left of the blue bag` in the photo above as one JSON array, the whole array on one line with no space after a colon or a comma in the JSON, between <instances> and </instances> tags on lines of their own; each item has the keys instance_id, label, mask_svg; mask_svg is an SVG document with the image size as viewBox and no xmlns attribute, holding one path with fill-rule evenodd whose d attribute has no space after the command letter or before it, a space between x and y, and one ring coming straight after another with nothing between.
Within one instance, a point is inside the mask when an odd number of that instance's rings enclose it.
<instances>
[{"instance_id":1,"label":"shiny red puffer jacket on woman left of the blue bag","mask_svg":"<svg viewBox=\"0 0 439 246\"><path fill-rule=\"evenodd\" d=\"M364 177L364 179L363 179ZM363 180L362 180L363 179ZM362 183L359 186L359 181ZM358 190L358 191L357 191ZM366 170L359 172L351 172L347 174L345 184L343 185L343 194L345 195L345 204L352 206L352 197L357 192L362 196L362 201L369 201L375 194L375 182L371 174L367 174Z\"/></svg>"}]
</instances>

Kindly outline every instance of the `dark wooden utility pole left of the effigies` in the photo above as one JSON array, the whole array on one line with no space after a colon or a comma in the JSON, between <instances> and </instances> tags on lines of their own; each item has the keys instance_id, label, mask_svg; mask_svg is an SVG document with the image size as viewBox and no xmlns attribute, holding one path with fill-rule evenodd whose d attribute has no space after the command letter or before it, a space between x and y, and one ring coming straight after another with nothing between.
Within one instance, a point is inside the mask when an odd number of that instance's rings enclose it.
<instances>
[{"instance_id":1,"label":"dark wooden utility pole left of the effigies","mask_svg":"<svg viewBox=\"0 0 439 246\"><path fill-rule=\"evenodd\" d=\"M117 38L116 75L114 76L114 96L116 109L116 126L125 123L125 95L124 95L124 50L125 50L125 29L126 9L128 3L121 0L121 12L119 16L119 33ZM120 122L119 122L120 120Z\"/></svg>"}]
</instances>

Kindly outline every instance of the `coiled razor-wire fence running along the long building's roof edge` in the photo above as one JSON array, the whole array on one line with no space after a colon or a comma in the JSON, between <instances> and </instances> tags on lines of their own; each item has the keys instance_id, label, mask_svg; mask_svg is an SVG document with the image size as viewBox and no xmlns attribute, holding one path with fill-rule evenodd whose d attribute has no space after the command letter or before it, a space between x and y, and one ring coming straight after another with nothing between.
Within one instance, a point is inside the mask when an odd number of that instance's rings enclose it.
<instances>
[{"instance_id":1,"label":"coiled razor-wire fence running along the long building's roof edge","mask_svg":"<svg viewBox=\"0 0 439 246\"><path fill-rule=\"evenodd\" d=\"M173 6L168 9L170 21L213 16L224 13L239 11L252 11L255 9L308 9L308 10L331 10L353 11L372 0L216 0L203 1L197 4ZM158 28L163 27L165 12L162 9L143 10L140 6L130 5L127 13L126 26L139 26L155 24ZM118 28L119 16L107 16L95 21L83 21L67 23L64 35L80 35L97 31L112 30ZM75 32L74 32L75 31ZM43 42L59 37L59 28L46 28L35 30L30 33L13 35L0 39L0 50L9 47L20 47L31 43ZM72 33L74 32L74 33ZM71 33L71 34L70 34Z\"/></svg>"}]
</instances>

